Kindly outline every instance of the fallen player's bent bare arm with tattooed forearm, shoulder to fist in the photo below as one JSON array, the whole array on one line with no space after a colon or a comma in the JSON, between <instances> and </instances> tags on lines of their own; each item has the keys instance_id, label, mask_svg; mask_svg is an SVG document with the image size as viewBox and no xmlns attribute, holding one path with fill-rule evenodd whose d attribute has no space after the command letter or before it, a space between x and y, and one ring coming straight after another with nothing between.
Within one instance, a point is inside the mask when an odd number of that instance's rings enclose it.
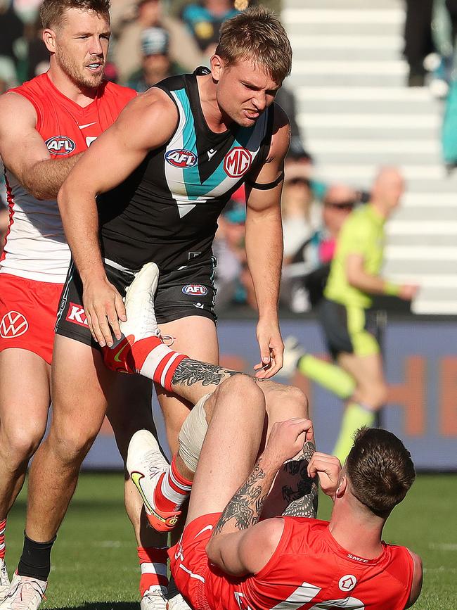
<instances>
[{"instance_id":1,"label":"fallen player's bent bare arm with tattooed forearm, shoulder to fist","mask_svg":"<svg viewBox=\"0 0 457 610\"><path fill-rule=\"evenodd\" d=\"M262 507L278 469L312 438L309 419L273 424L264 452L228 502L207 544L207 556L213 564L235 576L257 573L266 565L281 540L283 521L258 523Z\"/></svg>"}]
</instances>

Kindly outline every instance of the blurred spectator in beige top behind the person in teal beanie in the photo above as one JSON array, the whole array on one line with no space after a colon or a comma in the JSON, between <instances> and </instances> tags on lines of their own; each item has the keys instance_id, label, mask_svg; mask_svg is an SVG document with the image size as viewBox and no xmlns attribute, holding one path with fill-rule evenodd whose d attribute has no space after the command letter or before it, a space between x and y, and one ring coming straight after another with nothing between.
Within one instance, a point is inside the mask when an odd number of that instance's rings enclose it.
<instances>
[{"instance_id":1,"label":"blurred spectator in beige top behind the person in teal beanie","mask_svg":"<svg viewBox=\"0 0 457 610\"><path fill-rule=\"evenodd\" d=\"M149 27L162 27L169 35L169 57L182 65L184 71L193 72L203 63L202 54L193 37L180 20L165 14L161 0L138 0L124 6L122 0L112 1L112 33L115 40L114 61L121 83L141 68L141 32Z\"/></svg>"}]
</instances>

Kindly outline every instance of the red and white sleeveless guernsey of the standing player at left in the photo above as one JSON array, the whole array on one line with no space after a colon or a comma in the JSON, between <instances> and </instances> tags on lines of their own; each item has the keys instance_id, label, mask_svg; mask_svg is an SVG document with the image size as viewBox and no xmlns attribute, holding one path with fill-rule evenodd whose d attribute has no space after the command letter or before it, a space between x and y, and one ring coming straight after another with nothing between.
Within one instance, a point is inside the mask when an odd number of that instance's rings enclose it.
<instances>
[{"instance_id":1,"label":"red and white sleeveless guernsey of the standing player at left","mask_svg":"<svg viewBox=\"0 0 457 610\"><path fill-rule=\"evenodd\" d=\"M136 92L110 82L98 88L96 99L82 108L54 87L47 74L11 89L32 103L37 132L53 159L82 153L116 120ZM21 146L18 142L18 146ZM56 201L34 198L5 168L10 223L1 273L63 284L70 263Z\"/></svg>"}]
</instances>

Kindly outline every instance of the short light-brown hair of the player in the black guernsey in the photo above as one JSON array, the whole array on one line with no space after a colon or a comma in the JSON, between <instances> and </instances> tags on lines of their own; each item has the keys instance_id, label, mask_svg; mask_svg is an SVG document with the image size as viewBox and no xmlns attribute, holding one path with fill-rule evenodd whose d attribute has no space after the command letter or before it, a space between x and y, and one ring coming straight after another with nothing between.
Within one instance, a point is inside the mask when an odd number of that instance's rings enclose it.
<instances>
[{"instance_id":1,"label":"short light-brown hair of the player in the black guernsey","mask_svg":"<svg viewBox=\"0 0 457 610\"><path fill-rule=\"evenodd\" d=\"M292 48L281 21L262 6L248 8L226 20L215 51L228 65L252 59L282 83L292 68Z\"/></svg>"}]
</instances>

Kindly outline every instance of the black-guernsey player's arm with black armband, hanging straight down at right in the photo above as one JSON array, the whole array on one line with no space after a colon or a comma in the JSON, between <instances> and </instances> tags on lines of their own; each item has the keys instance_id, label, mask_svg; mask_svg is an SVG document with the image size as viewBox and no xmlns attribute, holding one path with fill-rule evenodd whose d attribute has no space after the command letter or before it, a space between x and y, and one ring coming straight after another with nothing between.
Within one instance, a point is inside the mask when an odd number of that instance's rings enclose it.
<instances>
[{"instance_id":1,"label":"black-guernsey player's arm with black armband, hanging straight down at right","mask_svg":"<svg viewBox=\"0 0 457 610\"><path fill-rule=\"evenodd\" d=\"M278 322L278 297L283 262L283 228L281 224L281 192L284 157L290 142L287 116L275 106L275 120L269 157L257 175L246 182L246 255L259 307L257 341L262 362L255 369L257 377L269 378L283 366L283 340ZM263 190L255 184L277 186Z\"/></svg>"}]
</instances>

